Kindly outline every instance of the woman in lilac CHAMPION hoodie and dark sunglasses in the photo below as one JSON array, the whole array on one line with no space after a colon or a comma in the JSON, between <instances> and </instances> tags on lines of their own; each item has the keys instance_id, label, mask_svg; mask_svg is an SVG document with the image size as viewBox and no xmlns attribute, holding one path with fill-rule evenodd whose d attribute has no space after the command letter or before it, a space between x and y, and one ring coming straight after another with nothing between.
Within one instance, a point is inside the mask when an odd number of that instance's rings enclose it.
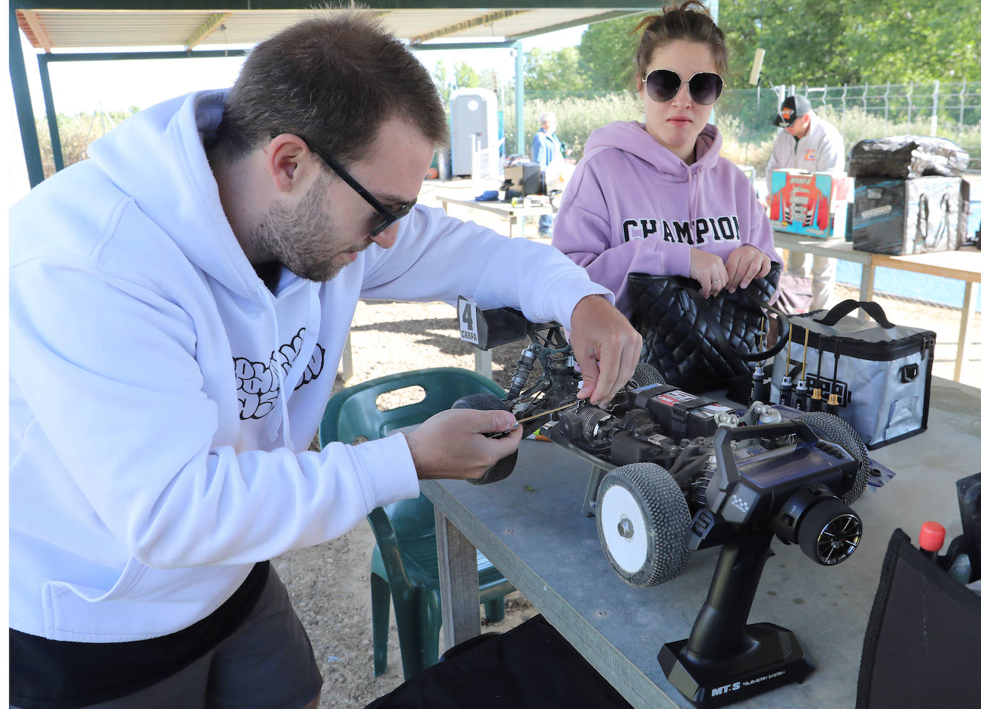
<instances>
[{"instance_id":1,"label":"woman in lilac CHAMPION hoodie and dark sunglasses","mask_svg":"<svg viewBox=\"0 0 981 709\"><path fill-rule=\"evenodd\" d=\"M631 272L688 276L708 297L782 263L752 183L719 156L722 136L708 124L728 64L722 30L693 0L642 27L635 62L644 123L593 131L552 235L628 317Z\"/></svg>"}]
</instances>

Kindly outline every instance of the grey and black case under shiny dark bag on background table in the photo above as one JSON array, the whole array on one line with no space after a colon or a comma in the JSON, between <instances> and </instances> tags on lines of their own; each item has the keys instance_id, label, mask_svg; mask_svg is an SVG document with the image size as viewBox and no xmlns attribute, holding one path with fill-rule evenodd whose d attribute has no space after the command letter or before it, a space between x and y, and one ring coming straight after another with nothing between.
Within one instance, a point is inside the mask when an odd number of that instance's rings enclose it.
<instances>
[{"instance_id":1,"label":"grey and black case under shiny dark bag on background table","mask_svg":"<svg viewBox=\"0 0 981 709\"><path fill-rule=\"evenodd\" d=\"M958 248L967 223L960 177L855 177L852 247L878 254Z\"/></svg>"}]
</instances>

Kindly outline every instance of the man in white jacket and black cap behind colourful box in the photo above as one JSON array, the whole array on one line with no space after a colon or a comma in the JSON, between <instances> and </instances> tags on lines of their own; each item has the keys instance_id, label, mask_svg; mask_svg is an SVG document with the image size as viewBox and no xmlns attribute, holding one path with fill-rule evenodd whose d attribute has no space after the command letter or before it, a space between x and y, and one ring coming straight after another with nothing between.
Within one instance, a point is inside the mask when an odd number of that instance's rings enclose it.
<instances>
[{"instance_id":1,"label":"man in white jacket and black cap behind colourful box","mask_svg":"<svg viewBox=\"0 0 981 709\"><path fill-rule=\"evenodd\" d=\"M845 171L845 140L838 128L816 115L806 96L788 96L773 117L773 125L783 128L773 143L766 164L766 188L774 170L795 168L808 173ZM768 195L766 204L769 206ZM792 251L787 259L785 276L805 277L807 254ZM835 259L814 256L811 259L811 304L809 310L827 306L835 289Z\"/></svg>"}]
</instances>

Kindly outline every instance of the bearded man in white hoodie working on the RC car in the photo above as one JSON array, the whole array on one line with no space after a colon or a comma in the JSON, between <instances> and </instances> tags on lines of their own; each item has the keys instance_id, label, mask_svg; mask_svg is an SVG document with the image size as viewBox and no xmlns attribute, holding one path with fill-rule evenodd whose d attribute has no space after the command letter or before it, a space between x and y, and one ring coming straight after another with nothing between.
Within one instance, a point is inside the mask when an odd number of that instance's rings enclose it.
<instances>
[{"instance_id":1,"label":"bearded man in white hoodie working on the RC car","mask_svg":"<svg viewBox=\"0 0 981 709\"><path fill-rule=\"evenodd\" d=\"M11 704L316 706L268 560L513 452L506 412L308 450L359 298L570 329L607 403L640 338L549 246L414 206L432 80L368 16L258 45L230 91L129 119L11 211ZM369 248L372 247L373 248Z\"/></svg>"}]
</instances>

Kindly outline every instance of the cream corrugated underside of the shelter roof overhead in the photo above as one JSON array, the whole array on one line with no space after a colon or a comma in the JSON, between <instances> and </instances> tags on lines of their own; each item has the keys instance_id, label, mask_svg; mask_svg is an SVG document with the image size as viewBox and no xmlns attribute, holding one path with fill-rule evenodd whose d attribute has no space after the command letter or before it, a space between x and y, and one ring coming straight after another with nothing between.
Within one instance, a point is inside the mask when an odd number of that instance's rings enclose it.
<instances>
[{"instance_id":1,"label":"cream corrugated underside of the shelter roof overhead","mask_svg":"<svg viewBox=\"0 0 981 709\"><path fill-rule=\"evenodd\" d=\"M45 51L251 45L304 18L337 12L310 8L168 10L154 9L151 6L164 3L152 2L140 3L151 9L134 10L93 7L100 5L98 2L60 2L57 4L61 7L57 9L24 7L39 3L18 3L16 0L12 4L19 8L18 24L31 44ZM79 7L66 7L73 4ZM174 4L169 3L172 7ZM574 5L566 8L555 7L555 4L548 8L506 8L501 3L489 2L479 8L394 8L377 12L396 36L410 42L452 42L477 37L510 40L645 10L639 3L624 3L626 7Z\"/></svg>"}]
</instances>

